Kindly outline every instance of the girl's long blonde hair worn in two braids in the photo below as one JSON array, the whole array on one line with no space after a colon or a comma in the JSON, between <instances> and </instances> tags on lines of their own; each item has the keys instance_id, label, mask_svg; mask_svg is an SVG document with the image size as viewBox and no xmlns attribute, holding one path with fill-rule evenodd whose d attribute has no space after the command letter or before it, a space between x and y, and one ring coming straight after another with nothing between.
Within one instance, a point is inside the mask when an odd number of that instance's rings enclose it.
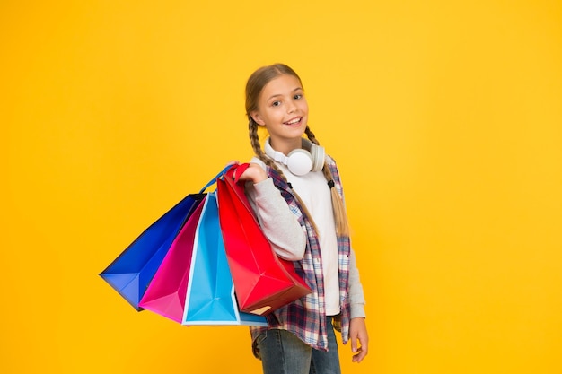
<instances>
[{"instance_id":1,"label":"girl's long blonde hair worn in two braids","mask_svg":"<svg viewBox=\"0 0 562 374\"><path fill-rule=\"evenodd\" d=\"M261 145L259 144L259 135L258 135L258 124L254 119L251 117L250 113L258 110L258 102L259 102L259 95L263 88L273 79L277 78L280 75L292 75L296 79L299 80L301 85L303 82L301 78L294 72L292 68L284 64L274 64L260 67L256 70L253 74L250 75L248 82L246 83L246 115L248 116L249 124L249 132L250 132L250 144L254 153L259 158L259 160L263 161L268 167L276 170L281 178L288 183L285 174L281 171L275 161L269 158L261 149ZM313 143L320 145L316 136L312 133L309 126L306 126L305 134L308 139ZM348 236L349 235L349 223L347 222L347 213L344 206L344 202L342 197L338 194L337 188L334 186L334 178L332 176L331 171L329 170L328 164L324 162L324 167L322 168L322 172L324 173L324 177L328 181L330 193L331 193L331 200L332 200L332 209L334 213L334 221L336 222L336 233L338 236ZM289 185L290 186L290 185ZM297 201L303 208L303 213L310 219L312 222L312 226L314 230L316 230L316 225L314 220L312 219L312 215L309 213L308 208L301 197L293 190L293 194L296 197ZM318 230L316 230L318 232Z\"/></svg>"}]
</instances>

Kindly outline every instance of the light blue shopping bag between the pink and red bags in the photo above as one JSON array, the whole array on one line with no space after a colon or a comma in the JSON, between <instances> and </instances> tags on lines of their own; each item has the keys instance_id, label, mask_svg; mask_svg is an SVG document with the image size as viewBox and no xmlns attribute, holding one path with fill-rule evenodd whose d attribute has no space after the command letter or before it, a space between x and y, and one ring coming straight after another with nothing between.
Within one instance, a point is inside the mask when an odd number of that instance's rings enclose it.
<instances>
[{"instance_id":1,"label":"light blue shopping bag between the pink and red bags","mask_svg":"<svg viewBox=\"0 0 562 374\"><path fill-rule=\"evenodd\" d=\"M195 231L182 325L268 326L265 317L238 310L224 252L216 193L206 196Z\"/></svg>"}]
</instances>

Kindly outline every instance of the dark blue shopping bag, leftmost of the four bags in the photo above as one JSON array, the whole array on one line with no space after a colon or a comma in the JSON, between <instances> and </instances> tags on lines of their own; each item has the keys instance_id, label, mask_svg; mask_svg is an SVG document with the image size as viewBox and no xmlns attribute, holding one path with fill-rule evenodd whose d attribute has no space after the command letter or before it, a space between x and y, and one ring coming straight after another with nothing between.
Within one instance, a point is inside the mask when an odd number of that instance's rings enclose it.
<instances>
[{"instance_id":1,"label":"dark blue shopping bag, leftmost of the four bags","mask_svg":"<svg viewBox=\"0 0 562 374\"><path fill-rule=\"evenodd\" d=\"M204 195L191 194L148 227L100 274L136 310L171 242Z\"/></svg>"}]
</instances>

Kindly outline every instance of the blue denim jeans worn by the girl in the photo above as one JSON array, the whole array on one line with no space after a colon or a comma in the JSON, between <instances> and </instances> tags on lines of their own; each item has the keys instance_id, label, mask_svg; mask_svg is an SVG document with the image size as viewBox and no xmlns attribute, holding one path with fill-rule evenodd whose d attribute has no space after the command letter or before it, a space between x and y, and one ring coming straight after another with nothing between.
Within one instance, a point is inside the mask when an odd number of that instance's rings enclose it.
<instances>
[{"instance_id":1,"label":"blue denim jeans worn by the girl","mask_svg":"<svg viewBox=\"0 0 562 374\"><path fill-rule=\"evenodd\" d=\"M312 349L293 333L268 330L256 341L264 374L341 374L332 317L326 317L328 352Z\"/></svg>"}]
</instances>

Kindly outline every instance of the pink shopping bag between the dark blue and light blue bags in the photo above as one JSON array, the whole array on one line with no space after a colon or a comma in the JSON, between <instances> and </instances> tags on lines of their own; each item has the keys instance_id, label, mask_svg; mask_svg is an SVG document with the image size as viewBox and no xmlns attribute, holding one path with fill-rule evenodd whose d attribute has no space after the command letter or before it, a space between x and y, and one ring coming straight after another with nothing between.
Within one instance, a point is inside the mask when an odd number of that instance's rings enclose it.
<instances>
[{"instance_id":1,"label":"pink shopping bag between the dark blue and light blue bags","mask_svg":"<svg viewBox=\"0 0 562 374\"><path fill-rule=\"evenodd\" d=\"M224 170L229 168L230 166L227 166ZM221 175L224 170L218 175ZM217 177L211 179L199 193L204 193L208 187L215 184ZM183 317L195 233L205 200L206 194L171 243L168 253L139 302L141 308L151 310L178 323L181 323Z\"/></svg>"}]
</instances>

